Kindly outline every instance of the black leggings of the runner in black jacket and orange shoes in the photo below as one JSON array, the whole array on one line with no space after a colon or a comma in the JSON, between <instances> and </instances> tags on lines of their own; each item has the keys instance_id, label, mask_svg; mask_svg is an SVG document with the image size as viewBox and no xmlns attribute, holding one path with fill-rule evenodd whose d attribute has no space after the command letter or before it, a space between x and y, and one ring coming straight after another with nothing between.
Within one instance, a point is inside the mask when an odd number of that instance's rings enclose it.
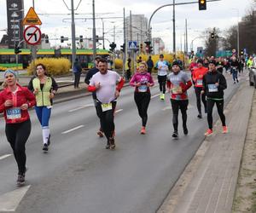
<instances>
[{"instance_id":1,"label":"black leggings of the runner in black jacket and orange shoes","mask_svg":"<svg viewBox=\"0 0 256 213\"><path fill-rule=\"evenodd\" d=\"M212 130L212 108L214 107L214 103L216 103L218 109L218 115L221 119L222 125L225 126L225 116L224 116L224 100L212 100L207 99L207 120L209 129Z\"/></svg>"}]
</instances>

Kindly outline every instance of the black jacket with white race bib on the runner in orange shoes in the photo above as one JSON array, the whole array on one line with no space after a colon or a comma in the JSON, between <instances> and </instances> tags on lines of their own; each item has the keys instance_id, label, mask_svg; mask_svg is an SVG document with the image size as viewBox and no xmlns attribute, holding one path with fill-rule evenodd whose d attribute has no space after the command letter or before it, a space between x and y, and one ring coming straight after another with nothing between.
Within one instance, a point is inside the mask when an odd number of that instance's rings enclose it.
<instances>
[{"instance_id":1,"label":"black jacket with white race bib on the runner in orange shoes","mask_svg":"<svg viewBox=\"0 0 256 213\"><path fill-rule=\"evenodd\" d=\"M212 84L218 83L218 88L212 88ZM206 92L208 98L223 99L224 89L227 88L226 78L218 71L207 72L203 77L203 90ZM215 91L216 90L216 91Z\"/></svg>"}]
</instances>

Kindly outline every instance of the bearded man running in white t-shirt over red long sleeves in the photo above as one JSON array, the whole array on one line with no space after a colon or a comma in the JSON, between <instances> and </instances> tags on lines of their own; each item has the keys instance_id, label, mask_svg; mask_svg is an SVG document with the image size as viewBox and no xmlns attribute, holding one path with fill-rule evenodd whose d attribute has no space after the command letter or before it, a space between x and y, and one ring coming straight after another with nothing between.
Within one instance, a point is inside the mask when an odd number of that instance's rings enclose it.
<instances>
[{"instance_id":1,"label":"bearded man running in white t-shirt over red long sleeves","mask_svg":"<svg viewBox=\"0 0 256 213\"><path fill-rule=\"evenodd\" d=\"M107 137L106 149L114 149L114 123L113 113L116 107L116 99L124 86L124 79L117 72L108 70L107 60L101 59L98 63L99 72L90 80L88 91L96 91L96 107L101 120L101 126ZM116 83L118 85L116 86Z\"/></svg>"}]
</instances>

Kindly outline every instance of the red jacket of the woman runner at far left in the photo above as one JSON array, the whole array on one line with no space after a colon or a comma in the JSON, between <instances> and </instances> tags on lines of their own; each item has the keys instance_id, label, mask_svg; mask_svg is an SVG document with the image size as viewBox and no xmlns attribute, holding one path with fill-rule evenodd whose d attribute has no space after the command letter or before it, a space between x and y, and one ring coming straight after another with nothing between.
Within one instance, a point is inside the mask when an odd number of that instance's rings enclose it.
<instances>
[{"instance_id":1,"label":"red jacket of the woman runner at far left","mask_svg":"<svg viewBox=\"0 0 256 213\"><path fill-rule=\"evenodd\" d=\"M8 88L3 89L3 91L0 93L0 113L3 112L3 116L7 124L22 123L28 120L29 114L27 110L20 110L20 106L22 104L27 103L28 107L33 107L36 104L36 98L29 89L27 89L26 87L21 87L19 84L17 84L17 86L18 86L18 90L15 94L13 94L12 91L10 91ZM7 100L13 101L12 107L4 106L4 102ZM13 108L17 108L18 111L20 110L20 116L16 115L18 118L17 117L15 118L15 116L13 118L10 118L7 115L8 112L10 112L10 110L12 110Z\"/></svg>"}]
</instances>

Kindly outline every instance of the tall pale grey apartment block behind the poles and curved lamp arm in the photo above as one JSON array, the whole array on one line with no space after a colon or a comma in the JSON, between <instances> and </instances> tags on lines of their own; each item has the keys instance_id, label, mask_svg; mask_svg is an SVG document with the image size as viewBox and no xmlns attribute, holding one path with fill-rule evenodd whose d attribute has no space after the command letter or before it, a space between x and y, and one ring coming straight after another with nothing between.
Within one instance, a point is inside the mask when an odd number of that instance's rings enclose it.
<instances>
[{"instance_id":1,"label":"tall pale grey apartment block behind the poles and curved lamp arm","mask_svg":"<svg viewBox=\"0 0 256 213\"><path fill-rule=\"evenodd\" d=\"M147 40L148 19L144 14L131 14L131 21L130 16L125 20L127 41L137 41L137 45L144 44Z\"/></svg>"}]
</instances>

